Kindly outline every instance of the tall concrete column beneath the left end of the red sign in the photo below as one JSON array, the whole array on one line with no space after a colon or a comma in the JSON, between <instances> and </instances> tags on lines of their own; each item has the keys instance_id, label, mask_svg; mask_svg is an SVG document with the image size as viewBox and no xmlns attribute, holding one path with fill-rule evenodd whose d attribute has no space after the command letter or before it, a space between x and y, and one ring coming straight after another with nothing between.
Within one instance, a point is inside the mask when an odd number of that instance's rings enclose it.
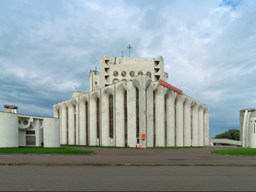
<instances>
[{"instance_id":1,"label":"tall concrete column beneath the left end of the red sign","mask_svg":"<svg viewBox=\"0 0 256 192\"><path fill-rule=\"evenodd\" d=\"M165 146L165 94L164 87L155 89L155 146Z\"/></svg>"}]
</instances>

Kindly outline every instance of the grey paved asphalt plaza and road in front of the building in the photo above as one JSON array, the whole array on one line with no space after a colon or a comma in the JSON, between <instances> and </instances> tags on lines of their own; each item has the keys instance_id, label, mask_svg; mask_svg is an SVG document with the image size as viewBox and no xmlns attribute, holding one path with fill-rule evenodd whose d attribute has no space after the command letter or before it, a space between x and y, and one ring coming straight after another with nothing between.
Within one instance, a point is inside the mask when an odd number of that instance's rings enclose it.
<instances>
[{"instance_id":1,"label":"grey paved asphalt plaza and road in front of the building","mask_svg":"<svg viewBox=\"0 0 256 192\"><path fill-rule=\"evenodd\" d=\"M256 157L208 153L230 147L68 148L96 154L0 155L0 191L256 190Z\"/></svg>"}]
</instances>

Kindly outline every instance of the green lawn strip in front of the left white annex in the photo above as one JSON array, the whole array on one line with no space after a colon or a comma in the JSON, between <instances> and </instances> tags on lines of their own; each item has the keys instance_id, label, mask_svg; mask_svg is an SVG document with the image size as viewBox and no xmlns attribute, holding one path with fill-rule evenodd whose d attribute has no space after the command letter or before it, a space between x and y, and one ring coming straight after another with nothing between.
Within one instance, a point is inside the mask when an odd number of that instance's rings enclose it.
<instances>
[{"instance_id":1,"label":"green lawn strip in front of the left white annex","mask_svg":"<svg viewBox=\"0 0 256 192\"><path fill-rule=\"evenodd\" d=\"M78 149L66 148L7 148L0 149L0 154L66 154L66 155L79 155L91 154L94 151L83 151Z\"/></svg>"}]
</instances>

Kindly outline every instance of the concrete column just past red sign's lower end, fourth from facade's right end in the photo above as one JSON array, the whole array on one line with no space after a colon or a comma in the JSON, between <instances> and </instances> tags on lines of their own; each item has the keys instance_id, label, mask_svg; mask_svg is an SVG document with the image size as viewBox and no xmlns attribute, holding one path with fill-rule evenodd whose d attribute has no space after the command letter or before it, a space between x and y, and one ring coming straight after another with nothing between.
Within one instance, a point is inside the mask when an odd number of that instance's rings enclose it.
<instances>
[{"instance_id":1,"label":"concrete column just past red sign's lower end, fourth from facade's right end","mask_svg":"<svg viewBox=\"0 0 256 192\"><path fill-rule=\"evenodd\" d=\"M184 146L191 145L191 106L188 98L185 99L184 107Z\"/></svg>"}]
</instances>

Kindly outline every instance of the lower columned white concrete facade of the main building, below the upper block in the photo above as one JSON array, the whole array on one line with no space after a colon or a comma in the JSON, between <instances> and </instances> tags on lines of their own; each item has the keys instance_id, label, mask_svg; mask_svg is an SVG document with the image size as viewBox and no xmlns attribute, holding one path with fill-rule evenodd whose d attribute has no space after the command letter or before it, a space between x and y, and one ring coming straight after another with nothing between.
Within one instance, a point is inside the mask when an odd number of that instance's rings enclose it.
<instances>
[{"instance_id":1,"label":"lower columned white concrete facade of the main building, below the upper block","mask_svg":"<svg viewBox=\"0 0 256 192\"><path fill-rule=\"evenodd\" d=\"M142 148L154 146L153 94L155 94L155 146L209 145L208 107L185 94L178 94L158 82L152 82L152 79L146 75L135 76L128 82L121 81L90 93L79 94L68 101L57 104L61 106L59 110L62 113L61 144L66 144L65 138L67 137L70 138L68 144L72 144L71 141L74 143L74 130L77 130L76 134L78 133L76 144L86 143L85 103L88 102L89 145L124 146L124 94L127 93L127 145L135 148L137 145L136 89L139 91L139 145ZM113 138L109 137L108 103L110 96L113 96L114 107ZM98 99L100 101L99 140L96 137L96 102ZM74 110L74 103L76 103L76 110ZM75 112L76 120L74 119ZM68 113L68 131L66 113ZM74 121L79 129L72 127ZM141 134L146 134L146 139L142 139Z\"/></svg>"}]
</instances>

